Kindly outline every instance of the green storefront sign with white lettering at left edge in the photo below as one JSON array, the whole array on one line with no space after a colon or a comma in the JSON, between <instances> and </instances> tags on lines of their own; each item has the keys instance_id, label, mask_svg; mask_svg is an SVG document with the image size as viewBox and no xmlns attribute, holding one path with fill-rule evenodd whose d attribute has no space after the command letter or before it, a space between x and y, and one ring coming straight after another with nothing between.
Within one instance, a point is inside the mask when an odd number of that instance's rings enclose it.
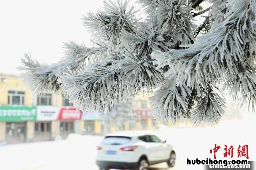
<instances>
[{"instance_id":1,"label":"green storefront sign with white lettering at left edge","mask_svg":"<svg viewBox=\"0 0 256 170\"><path fill-rule=\"evenodd\" d=\"M37 119L37 107L0 106L0 121L28 121Z\"/></svg>"}]
</instances>

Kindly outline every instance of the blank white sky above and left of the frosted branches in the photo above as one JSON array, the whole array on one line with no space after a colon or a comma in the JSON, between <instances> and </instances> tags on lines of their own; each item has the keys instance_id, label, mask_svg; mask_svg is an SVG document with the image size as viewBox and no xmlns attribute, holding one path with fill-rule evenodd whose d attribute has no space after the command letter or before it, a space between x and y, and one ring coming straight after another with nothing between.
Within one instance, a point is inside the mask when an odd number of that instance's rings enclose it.
<instances>
[{"instance_id":1,"label":"blank white sky above and left of the frosted branches","mask_svg":"<svg viewBox=\"0 0 256 170\"><path fill-rule=\"evenodd\" d=\"M90 43L82 15L102 7L103 0L0 1L0 73L19 73L24 53L50 64L64 56L63 42Z\"/></svg>"}]
</instances>

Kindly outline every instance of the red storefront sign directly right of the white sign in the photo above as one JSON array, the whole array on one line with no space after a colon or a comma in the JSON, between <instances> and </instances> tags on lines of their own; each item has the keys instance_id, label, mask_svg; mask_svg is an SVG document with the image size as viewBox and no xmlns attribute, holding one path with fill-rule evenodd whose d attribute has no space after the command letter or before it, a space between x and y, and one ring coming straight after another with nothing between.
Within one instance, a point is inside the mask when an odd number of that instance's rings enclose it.
<instances>
[{"instance_id":1,"label":"red storefront sign directly right of the white sign","mask_svg":"<svg viewBox=\"0 0 256 170\"><path fill-rule=\"evenodd\" d=\"M82 111L76 108L60 108L58 120L79 120L82 118Z\"/></svg>"}]
</instances>

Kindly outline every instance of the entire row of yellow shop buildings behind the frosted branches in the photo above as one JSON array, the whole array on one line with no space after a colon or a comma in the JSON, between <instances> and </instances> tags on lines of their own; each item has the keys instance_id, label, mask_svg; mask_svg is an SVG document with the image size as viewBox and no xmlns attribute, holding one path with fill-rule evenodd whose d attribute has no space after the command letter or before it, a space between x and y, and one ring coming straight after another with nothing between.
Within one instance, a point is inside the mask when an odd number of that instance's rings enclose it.
<instances>
[{"instance_id":1,"label":"entire row of yellow shop buildings behind the frosted branches","mask_svg":"<svg viewBox=\"0 0 256 170\"><path fill-rule=\"evenodd\" d=\"M135 97L140 121L125 122L123 127L104 128L102 117L77 111L68 98L54 93L36 95L16 75L0 74L0 143L38 142L65 139L68 134L102 135L121 130L153 130L156 123L150 115L151 106L140 94ZM170 122L169 126L172 126Z\"/></svg>"}]
</instances>

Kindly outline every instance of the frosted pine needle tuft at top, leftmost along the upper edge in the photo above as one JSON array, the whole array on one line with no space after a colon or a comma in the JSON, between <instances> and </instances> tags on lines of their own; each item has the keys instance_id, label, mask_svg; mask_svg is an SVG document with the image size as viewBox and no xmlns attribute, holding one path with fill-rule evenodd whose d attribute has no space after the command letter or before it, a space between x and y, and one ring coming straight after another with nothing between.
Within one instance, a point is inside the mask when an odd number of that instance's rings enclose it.
<instances>
[{"instance_id":1,"label":"frosted pine needle tuft at top, leftmost along the upper edge","mask_svg":"<svg viewBox=\"0 0 256 170\"><path fill-rule=\"evenodd\" d=\"M118 51L120 47L120 31L122 29L132 32L135 19L134 7L128 8L128 1L124 3L104 1L104 11L89 12L83 18L83 24L93 33L95 40L108 43L109 49Z\"/></svg>"}]
</instances>

